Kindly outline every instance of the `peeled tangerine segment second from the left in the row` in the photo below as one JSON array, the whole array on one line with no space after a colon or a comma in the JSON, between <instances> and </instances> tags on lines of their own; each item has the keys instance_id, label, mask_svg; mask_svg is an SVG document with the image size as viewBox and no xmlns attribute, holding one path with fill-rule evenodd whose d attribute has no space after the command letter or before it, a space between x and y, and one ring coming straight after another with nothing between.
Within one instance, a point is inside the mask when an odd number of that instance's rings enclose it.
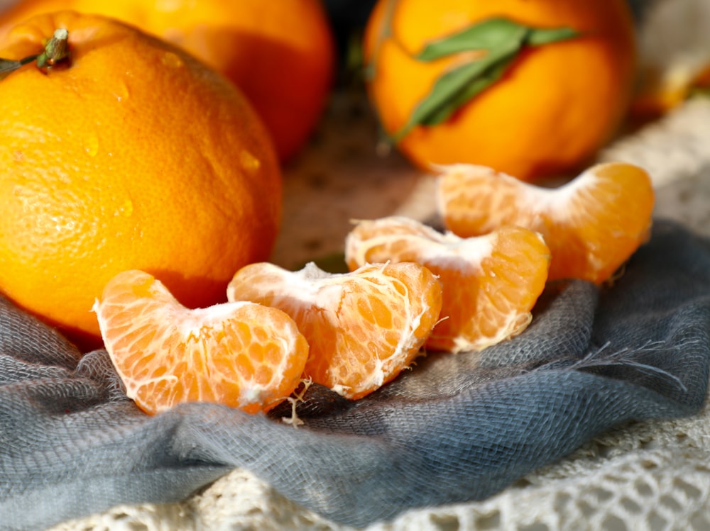
<instances>
[{"instance_id":1,"label":"peeled tangerine segment second from the left in the row","mask_svg":"<svg viewBox=\"0 0 710 531\"><path fill-rule=\"evenodd\" d=\"M442 288L432 272L411 263L346 274L313 263L298 272L261 263L236 272L227 296L288 313L310 345L304 376L355 400L420 354L439 317Z\"/></svg>"}]
</instances>

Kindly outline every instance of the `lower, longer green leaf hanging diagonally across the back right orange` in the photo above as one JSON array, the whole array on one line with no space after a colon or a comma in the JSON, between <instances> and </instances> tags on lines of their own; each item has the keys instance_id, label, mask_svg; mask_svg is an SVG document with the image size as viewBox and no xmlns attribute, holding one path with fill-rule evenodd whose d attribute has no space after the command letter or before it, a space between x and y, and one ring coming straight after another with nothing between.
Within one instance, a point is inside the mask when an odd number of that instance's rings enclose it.
<instances>
[{"instance_id":1,"label":"lower, longer green leaf hanging diagonally across the back right orange","mask_svg":"<svg viewBox=\"0 0 710 531\"><path fill-rule=\"evenodd\" d=\"M393 135L393 140L399 142L417 125L441 123L466 103L463 94L478 94L491 86L503 73L498 69L504 70L508 66L526 36L527 30L519 30L517 38L508 38L481 59L466 62L439 77L430 93L415 107L409 121ZM497 75L491 76L492 71L496 71Z\"/></svg>"}]
</instances>

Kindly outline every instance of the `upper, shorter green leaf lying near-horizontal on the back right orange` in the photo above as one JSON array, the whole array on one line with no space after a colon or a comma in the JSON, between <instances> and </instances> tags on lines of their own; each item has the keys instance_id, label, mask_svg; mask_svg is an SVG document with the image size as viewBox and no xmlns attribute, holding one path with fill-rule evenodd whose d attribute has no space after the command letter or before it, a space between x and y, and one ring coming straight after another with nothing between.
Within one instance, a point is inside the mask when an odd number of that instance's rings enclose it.
<instances>
[{"instance_id":1,"label":"upper, shorter green leaf lying near-horizontal on the back right orange","mask_svg":"<svg viewBox=\"0 0 710 531\"><path fill-rule=\"evenodd\" d=\"M471 50L494 50L522 42L528 31L529 28L507 18L488 18L459 33L430 42L416 58L420 61L433 61Z\"/></svg>"}]
</instances>

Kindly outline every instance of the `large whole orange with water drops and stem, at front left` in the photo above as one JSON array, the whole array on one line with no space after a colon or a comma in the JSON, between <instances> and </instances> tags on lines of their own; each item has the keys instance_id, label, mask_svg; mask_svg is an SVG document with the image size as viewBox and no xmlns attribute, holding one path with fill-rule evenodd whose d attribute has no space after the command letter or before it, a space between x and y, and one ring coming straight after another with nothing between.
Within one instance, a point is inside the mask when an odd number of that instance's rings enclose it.
<instances>
[{"instance_id":1,"label":"large whole orange with water drops and stem, at front left","mask_svg":"<svg viewBox=\"0 0 710 531\"><path fill-rule=\"evenodd\" d=\"M68 60L0 81L0 291L82 346L99 344L94 299L126 269L187 306L226 301L278 232L266 129L224 77L102 16L31 18L0 57L38 54L57 28Z\"/></svg>"}]
</instances>

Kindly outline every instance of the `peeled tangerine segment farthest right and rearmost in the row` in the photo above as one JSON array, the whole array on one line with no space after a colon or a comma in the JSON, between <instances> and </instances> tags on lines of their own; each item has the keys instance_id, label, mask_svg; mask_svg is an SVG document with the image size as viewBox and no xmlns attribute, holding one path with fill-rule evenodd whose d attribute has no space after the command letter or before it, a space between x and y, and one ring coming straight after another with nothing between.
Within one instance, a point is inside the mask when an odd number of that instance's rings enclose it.
<instances>
[{"instance_id":1,"label":"peeled tangerine segment farthest right and rearmost in the row","mask_svg":"<svg viewBox=\"0 0 710 531\"><path fill-rule=\"evenodd\" d=\"M648 238L654 193L644 169L598 164L556 189L522 182L493 169L457 164L442 169L439 211L461 237L520 225L550 247L549 279L600 284Z\"/></svg>"}]
</instances>

